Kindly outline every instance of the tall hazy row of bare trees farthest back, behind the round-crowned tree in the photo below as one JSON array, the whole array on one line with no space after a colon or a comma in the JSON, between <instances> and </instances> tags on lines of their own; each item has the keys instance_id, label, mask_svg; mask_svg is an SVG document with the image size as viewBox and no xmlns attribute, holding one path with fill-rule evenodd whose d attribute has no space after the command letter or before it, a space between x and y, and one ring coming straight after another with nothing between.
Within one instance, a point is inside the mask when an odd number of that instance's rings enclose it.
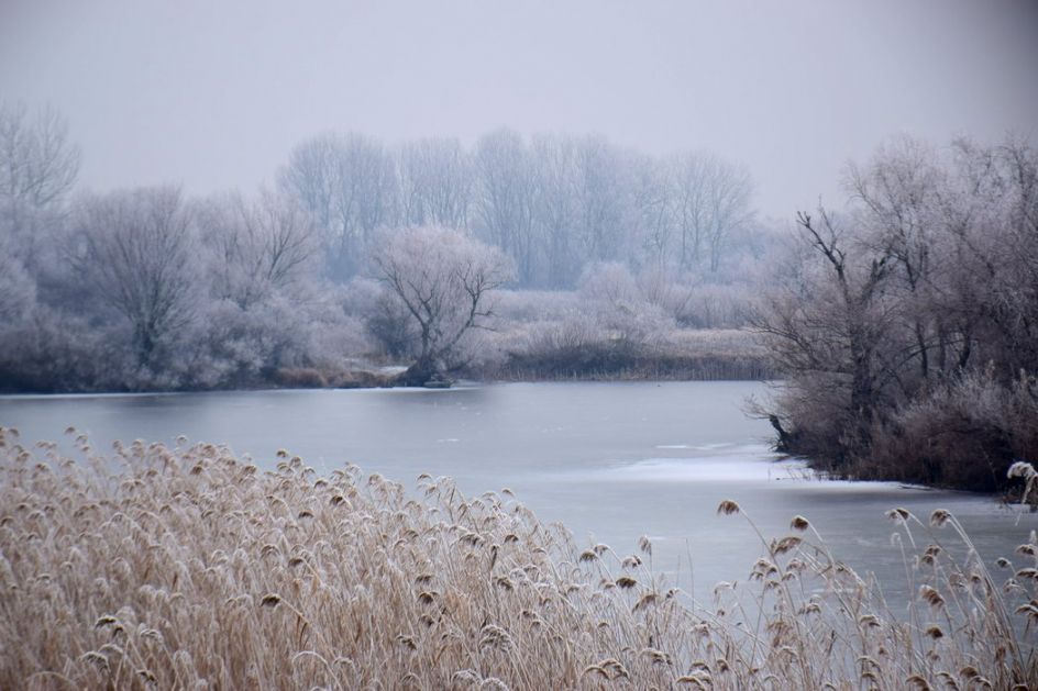
<instances>
[{"instance_id":1,"label":"tall hazy row of bare trees farthest back, behind the round-crowned tree","mask_svg":"<svg viewBox=\"0 0 1038 691\"><path fill-rule=\"evenodd\" d=\"M509 130L388 146L360 134L299 144L279 187L313 214L329 274L347 279L385 229L434 225L499 247L520 288L572 288L589 263L717 274L752 243L749 172L709 154L665 158L600 136Z\"/></svg>"}]
</instances>

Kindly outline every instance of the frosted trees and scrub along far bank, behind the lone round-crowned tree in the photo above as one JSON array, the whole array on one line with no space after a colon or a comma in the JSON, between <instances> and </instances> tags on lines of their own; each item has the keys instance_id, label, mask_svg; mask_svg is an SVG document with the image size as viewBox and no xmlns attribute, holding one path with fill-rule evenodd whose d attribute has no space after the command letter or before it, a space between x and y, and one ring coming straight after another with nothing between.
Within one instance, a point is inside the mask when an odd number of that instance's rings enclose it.
<instances>
[{"instance_id":1,"label":"frosted trees and scrub along far bank, behind the lone round-crowned tree","mask_svg":"<svg viewBox=\"0 0 1038 691\"><path fill-rule=\"evenodd\" d=\"M503 131L466 149L322 135L251 196L77 192L79 164L58 113L0 107L0 390L363 384L423 358L476 377L685 367L672 356L687 339L671 336L744 324L748 277L774 242L743 171L599 137ZM395 242L416 227L501 258L481 323L449 350L423 347L379 264L395 248L424 259L412 275L432 271L437 253ZM554 366L573 344L605 358Z\"/></svg>"}]
</instances>

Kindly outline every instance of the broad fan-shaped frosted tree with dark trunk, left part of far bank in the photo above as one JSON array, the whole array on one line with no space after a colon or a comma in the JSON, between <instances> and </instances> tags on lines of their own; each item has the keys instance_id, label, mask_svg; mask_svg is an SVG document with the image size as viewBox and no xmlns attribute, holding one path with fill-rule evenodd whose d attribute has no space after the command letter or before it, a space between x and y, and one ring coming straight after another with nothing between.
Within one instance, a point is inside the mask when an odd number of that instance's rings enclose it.
<instances>
[{"instance_id":1,"label":"broad fan-shaped frosted tree with dark trunk, left part of far bank","mask_svg":"<svg viewBox=\"0 0 1038 691\"><path fill-rule=\"evenodd\" d=\"M129 324L137 365L161 365L164 346L190 321L197 287L191 218L180 191L144 188L82 200L78 268Z\"/></svg>"}]
</instances>

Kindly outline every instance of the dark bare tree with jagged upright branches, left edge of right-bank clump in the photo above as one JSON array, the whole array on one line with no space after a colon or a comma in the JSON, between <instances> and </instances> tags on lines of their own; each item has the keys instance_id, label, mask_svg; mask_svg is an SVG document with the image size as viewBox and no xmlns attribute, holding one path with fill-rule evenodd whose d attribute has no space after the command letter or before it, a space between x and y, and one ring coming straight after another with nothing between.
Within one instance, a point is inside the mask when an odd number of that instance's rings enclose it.
<instances>
[{"instance_id":1,"label":"dark bare tree with jagged upright branches, left edge of right-bank clump","mask_svg":"<svg viewBox=\"0 0 1038 691\"><path fill-rule=\"evenodd\" d=\"M891 257L841 232L824 210L797 216L803 270L769 287L757 317L777 368L785 372L784 417L830 467L866 448L888 377L882 353L890 336L884 290ZM776 417L773 422L786 432Z\"/></svg>"}]
</instances>

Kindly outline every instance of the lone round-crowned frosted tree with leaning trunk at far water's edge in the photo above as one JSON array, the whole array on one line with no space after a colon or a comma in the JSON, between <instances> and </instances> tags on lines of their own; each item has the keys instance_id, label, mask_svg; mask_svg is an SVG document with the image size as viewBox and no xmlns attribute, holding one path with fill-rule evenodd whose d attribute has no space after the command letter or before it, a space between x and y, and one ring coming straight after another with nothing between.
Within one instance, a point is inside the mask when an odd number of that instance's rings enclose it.
<instances>
[{"instance_id":1,"label":"lone round-crowned frosted tree with leaning trunk at far water's edge","mask_svg":"<svg viewBox=\"0 0 1038 691\"><path fill-rule=\"evenodd\" d=\"M497 248L457 231L412 227L387 239L374 256L379 277L418 331L418 359L399 383L420 386L459 365L462 339L490 316L493 291L511 278Z\"/></svg>"}]
</instances>

